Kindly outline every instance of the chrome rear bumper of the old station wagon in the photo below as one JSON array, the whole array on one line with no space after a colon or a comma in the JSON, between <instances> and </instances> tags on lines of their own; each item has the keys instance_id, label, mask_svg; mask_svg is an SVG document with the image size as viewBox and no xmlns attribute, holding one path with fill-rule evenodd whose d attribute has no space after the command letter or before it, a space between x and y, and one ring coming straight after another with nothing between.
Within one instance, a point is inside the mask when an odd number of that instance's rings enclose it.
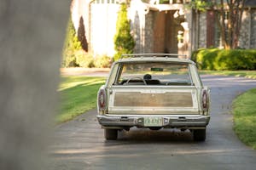
<instances>
[{"instance_id":1,"label":"chrome rear bumper of the old station wagon","mask_svg":"<svg viewBox=\"0 0 256 170\"><path fill-rule=\"evenodd\" d=\"M160 127L177 128L200 128L206 127L210 121L210 116L201 115L98 115L98 122L104 128L125 128L125 127L147 127L144 126L144 118L161 117L162 125Z\"/></svg>"}]
</instances>

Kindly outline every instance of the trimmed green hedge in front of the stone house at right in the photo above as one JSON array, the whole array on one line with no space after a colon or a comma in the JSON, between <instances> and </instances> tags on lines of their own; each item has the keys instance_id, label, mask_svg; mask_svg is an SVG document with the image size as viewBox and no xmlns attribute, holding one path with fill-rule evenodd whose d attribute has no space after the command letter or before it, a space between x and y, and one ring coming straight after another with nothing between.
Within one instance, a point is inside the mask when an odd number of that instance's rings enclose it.
<instances>
[{"instance_id":1,"label":"trimmed green hedge in front of the stone house at right","mask_svg":"<svg viewBox=\"0 0 256 170\"><path fill-rule=\"evenodd\" d=\"M201 48L191 59L201 70L256 70L256 49Z\"/></svg>"}]
</instances>

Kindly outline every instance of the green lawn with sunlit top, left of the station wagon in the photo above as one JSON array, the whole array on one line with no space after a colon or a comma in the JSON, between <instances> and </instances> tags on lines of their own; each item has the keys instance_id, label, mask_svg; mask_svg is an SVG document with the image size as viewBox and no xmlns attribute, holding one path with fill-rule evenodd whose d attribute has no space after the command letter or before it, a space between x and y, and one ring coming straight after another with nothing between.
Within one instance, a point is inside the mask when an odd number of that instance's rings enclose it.
<instances>
[{"instance_id":1,"label":"green lawn with sunlit top, left of the station wagon","mask_svg":"<svg viewBox=\"0 0 256 170\"><path fill-rule=\"evenodd\" d=\"M103 77L61 77L58 89L61 105L56 122L67 122L74 116L96 108L98 89L104 84Z\"/></svg>"}]
</instances>

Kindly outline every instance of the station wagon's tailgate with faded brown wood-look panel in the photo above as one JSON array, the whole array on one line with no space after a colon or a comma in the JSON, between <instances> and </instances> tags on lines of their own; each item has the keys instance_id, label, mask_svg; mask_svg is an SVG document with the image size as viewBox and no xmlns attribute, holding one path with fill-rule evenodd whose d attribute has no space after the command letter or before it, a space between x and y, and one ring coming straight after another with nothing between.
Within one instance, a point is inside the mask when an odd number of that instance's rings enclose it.
<instances>
[{"instance_id":1,"label":"station wagon's tailgate with faded brown wood-look panel","mask_svg":"<svg viewBox=\"0 0 256 170\"><path fill-rule=\"evenodd\" d=\"M109 114L199 114L197 89L178 86L114 86L109 90Z\"/></svg>"}]
</instances>

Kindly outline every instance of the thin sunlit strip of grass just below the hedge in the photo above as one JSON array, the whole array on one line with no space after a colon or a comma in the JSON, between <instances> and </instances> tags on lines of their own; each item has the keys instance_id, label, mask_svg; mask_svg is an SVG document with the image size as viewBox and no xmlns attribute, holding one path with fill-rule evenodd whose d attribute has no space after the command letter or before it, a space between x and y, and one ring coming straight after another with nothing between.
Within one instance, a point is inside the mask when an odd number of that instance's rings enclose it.
<instances>
[{"instance_id":1,"label":"thin sunlit strip of grass just below the hedge","mask_svg":"<svg viewBox=\"0 0 256 170\"><path fill-rule=\"evenodd\" d=\"M256 71L199 71L200 74L211 74L256 79Z\"/></svg>"}]
</instances>

